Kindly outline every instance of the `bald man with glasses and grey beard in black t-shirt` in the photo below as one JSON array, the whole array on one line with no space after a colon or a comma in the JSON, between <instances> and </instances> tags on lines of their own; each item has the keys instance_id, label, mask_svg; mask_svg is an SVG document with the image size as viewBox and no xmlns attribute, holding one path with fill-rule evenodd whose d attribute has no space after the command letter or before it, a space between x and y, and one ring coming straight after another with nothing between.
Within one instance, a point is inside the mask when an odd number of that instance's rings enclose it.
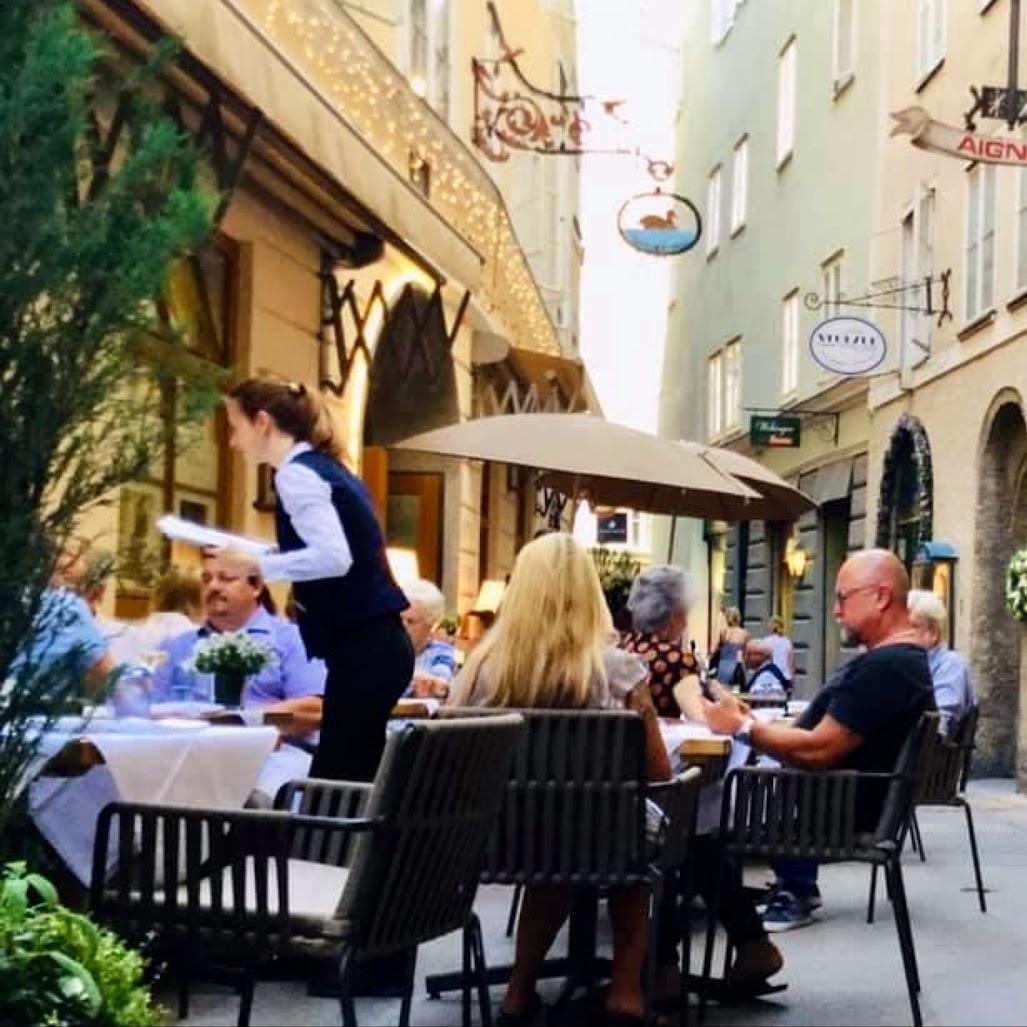
<instances>
[{"instance_id":1,"label":"bald man with glasses and grey beard in black t-shirt","mask_svg":"<svg viewBox=\"0 0 1027 1027\"><path fill-rule=\"evenodd\" d=\"M806 770L888 773L920 716L935 708L927 655L907 609L909 577L893 553L868 549L838 572L835 620L842 641L862 645L832 677L795 727L755 721L730 695L707 703L707 722L788 766ZM874 828L885 782L863 783L857 796L857 830ZM816 864L774 868L777 883L763 923L790 930L812 920L819 905Z\"/></svg>"}]
</instances>

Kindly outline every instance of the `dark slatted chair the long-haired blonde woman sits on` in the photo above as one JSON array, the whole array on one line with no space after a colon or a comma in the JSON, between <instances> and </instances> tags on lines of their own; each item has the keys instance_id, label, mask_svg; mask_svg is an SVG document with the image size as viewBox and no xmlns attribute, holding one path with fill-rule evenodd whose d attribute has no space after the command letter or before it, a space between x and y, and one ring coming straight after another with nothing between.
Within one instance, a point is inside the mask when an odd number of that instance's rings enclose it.
<instances>
[{"instance_id":1,"label":"dark slatted chair the long-haired blonde woman sits on","mask_svg":"<svg viewBox=\"0 0 1027 1027\"><path fill-rule=\"evenodd\" d=\"M446 717L488 717L492 710L446 710ZM503 807L489 840L482 883L556 884L574 888L567 956L545 960L541 979L565 978L564 994L591 989L609 968L596 958L596 917L601 889L643 884L660 908L667 886L685 863L694 829L699 772L667 783L646 778L641 718L625 711L519 710L522 735ZM658 853L647 851L645 800L651 798L673 825ZM650 952L656 916L650 917ZM684 931L682 933L684 935ZM687 945L688 939L683 938ZM686 948L687 952L687 948ZM490 985L509 980L511 966L486 973ZM654 964L649 960L647 1005ZM683 976L683 989L685 977ZM428 994L464 987L461 973L432 975ZM682 998L686 997L683 990Z\"/></svg>"}]
</instances>

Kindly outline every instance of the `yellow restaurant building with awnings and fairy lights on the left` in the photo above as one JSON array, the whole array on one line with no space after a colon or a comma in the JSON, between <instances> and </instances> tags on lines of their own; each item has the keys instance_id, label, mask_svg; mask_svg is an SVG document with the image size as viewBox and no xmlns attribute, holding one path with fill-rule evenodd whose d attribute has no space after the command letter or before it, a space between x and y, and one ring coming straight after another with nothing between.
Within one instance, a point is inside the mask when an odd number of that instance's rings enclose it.
<instances>
[{"instance_id":1,"label":"yellow restaurant building with awnings and fairy lights on the left","mask_svg":"<svg viewBox=\"0 0 1027 1027\"><path fill-rule=\"evenodd\" d=\"M470 609L531 536L534 484L390 447L495 409L587 408L574 162L542 161L545 201L529 201L537 161L490 164L472 145L470 58L499 53L501 24L531 44L544 84L572 81L571 4L507 0L497 18L471 0L81 6L113 60L181 42L163 85L223 200L212 244L173 272L172 327L235 375L320 388L389 545L452 610ZM86 526L118 551L114 612L147 608L168 558L160 512L269 536L273 503L266 471L227 450L220 416L169 445Z\"/></svg>"}]
</instances>

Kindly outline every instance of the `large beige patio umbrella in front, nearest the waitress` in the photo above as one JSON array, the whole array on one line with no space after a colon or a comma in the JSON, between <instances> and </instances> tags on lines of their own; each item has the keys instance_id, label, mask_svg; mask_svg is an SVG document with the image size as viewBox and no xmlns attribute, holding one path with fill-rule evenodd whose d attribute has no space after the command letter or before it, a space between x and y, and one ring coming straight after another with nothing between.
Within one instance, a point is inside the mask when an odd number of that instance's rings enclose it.
<instances>
[{"instance_id":1,"label":"large beige patio umbrella in front, nearest the waitress","mask_svg":"<svg viewBox=\"0 0 1027 1027\"><path fill-rule=\"evenodd\" d=\"M483 417L425 431L395 448L530 467L546 485L596 505L719 521L768 516L768 500L716 466L705 448L693 451L592 414Z\"/></svg>"}]
</instances>

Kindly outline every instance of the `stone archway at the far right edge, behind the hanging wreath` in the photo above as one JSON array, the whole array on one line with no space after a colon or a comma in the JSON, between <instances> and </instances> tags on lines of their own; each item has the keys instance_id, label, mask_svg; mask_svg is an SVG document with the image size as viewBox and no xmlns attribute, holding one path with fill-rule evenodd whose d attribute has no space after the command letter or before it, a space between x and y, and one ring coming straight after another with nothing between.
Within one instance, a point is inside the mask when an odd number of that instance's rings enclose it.
<instances>
[{"instance_id":1,"label":"stone archway at the far right edge, behind the hanging wreath","mask_svg":"<svg viewBox=\"0 0 1027 1027\"><path fill-rule=\"evenodd\" d=\"M1027 783L1027 739L1020 714L1024 629L1005 610L1005 569L1027 544L1027 422L1007 390L984 422L978 461L971 664L981 702L976 772ZM1019 764L1019 767L1018 767ZM1019 770L1019 773L1018 773Z\"/></svg>"}]
</instances>

